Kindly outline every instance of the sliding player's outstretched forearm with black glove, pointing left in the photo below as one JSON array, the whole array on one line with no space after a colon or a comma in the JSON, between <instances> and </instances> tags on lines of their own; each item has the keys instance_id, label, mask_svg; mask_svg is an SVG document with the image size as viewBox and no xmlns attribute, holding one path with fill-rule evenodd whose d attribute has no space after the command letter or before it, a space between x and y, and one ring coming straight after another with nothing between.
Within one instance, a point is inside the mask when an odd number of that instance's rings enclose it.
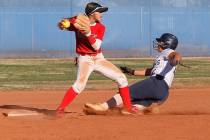
<instances>
[{"instance_id":1,"label":"sliding player's outstretched forearm with black glove, pointing left","mask_svg":"<svg viewBox=\"0 0 210 140\"><path fill-rule=\"evenodd\" d=\"M145 70L134 70L128 67L120 67L123 73L126 73L128 75L135 75L135 76L149 76L152 68L147 68Z\"/></svg>"}]
</instances>

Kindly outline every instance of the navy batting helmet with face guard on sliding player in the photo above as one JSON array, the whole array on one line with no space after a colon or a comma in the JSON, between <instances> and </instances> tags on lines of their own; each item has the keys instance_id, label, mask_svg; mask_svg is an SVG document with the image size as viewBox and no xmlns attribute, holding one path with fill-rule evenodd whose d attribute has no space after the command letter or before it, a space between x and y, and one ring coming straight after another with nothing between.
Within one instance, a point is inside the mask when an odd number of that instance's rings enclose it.
<instances>
[{"instance_id":1,"label":"navy batting helmet with face guard on sliding player","mask_svg":"<svg viewBox=\"0 0 210 140\"><path fill-rule=\"evenodd\" d=\"M170 33L164 33L160 38L156 38L154 42L154 48L160 46L162 49L172 49L175 50L178 45L178 39L175 35Z\"/></svg>"}]
</instances>

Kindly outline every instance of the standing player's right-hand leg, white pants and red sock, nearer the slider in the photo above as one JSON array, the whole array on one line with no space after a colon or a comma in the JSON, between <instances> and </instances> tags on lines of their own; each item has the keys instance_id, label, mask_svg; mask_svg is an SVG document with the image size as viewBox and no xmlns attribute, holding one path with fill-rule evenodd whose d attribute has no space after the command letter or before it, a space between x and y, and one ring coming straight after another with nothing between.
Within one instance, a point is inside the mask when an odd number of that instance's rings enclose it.
<instances>
[{"instance_id":1,"label":"standing player's right-hand leg, white pants and red sock, nearer the slider","mask_svg":"<svg viewBox=\"0 0 210 140\"><path fill-rule=\"evenodd\" d=\"M102 73L106 77L116 81L119 86L119 93L122 97L124 107L131 108L130 94L126 76L111 62L106 59L98 59L95 61L95 70Z\"/></svg>"}]
</instances>

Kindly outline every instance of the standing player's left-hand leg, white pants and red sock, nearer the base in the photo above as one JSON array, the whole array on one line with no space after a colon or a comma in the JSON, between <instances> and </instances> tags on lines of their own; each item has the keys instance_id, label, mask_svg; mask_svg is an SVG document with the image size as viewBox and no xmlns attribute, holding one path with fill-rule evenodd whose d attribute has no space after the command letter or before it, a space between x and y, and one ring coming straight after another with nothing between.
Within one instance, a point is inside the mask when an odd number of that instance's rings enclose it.
<instances>
[{"instance_id":1,"label":"standing player's left-hand leg, white pants and red sock, nearer the base","mask_svg":"<svg viewBox=\"0 0 210 140\"><path fill-rule=\"evenodd\" d=\"M80 56L78 58L77 80L73 86L66 92L57 111L64 111L74 98L83 91L86 86L87 80L93 71L93 61L88 56Z\"/></svg>"}]
</instances>

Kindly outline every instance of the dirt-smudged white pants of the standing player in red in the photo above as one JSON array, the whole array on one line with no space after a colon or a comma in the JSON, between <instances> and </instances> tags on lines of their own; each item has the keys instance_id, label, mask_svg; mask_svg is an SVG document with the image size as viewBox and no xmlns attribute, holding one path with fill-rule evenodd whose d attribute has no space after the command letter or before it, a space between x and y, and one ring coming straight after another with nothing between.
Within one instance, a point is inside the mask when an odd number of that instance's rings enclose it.
<instances>
[{"instance_id":1,"label":"dirt-smudged white pants of the standing player in red","mask_svg":"<svg viewBox=\"0 0 210 140\"><path fill-rule=\"evenodd\" d=\"M90 74L93 71L100 72L104 76L118 83L119 88L128 86L126 76L115 65L106 60L102 53L96 56L79 55L78 57L77 80L73 84L73 89L81 93L87 83Z\"/></svg>"}]
</instances>

